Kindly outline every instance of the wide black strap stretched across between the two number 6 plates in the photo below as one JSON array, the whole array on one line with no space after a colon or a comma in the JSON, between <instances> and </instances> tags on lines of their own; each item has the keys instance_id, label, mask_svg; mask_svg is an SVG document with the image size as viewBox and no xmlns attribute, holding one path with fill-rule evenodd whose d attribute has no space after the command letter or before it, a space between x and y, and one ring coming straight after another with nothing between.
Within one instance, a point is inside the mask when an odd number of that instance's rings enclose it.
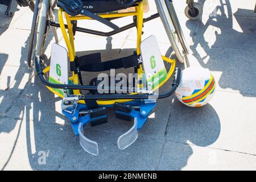
<instances>
[{"instance_id":1,"label":"wide black strap stretched across between the two number 6 plates","mask_svg":"<svg viewBox=\"0 0 256 182\"><path fill-rule=\"evenodd\" d=\"M137 67L139 64L141 64L140 55L131 55L131 56L122 57L119 59L114 59L114 60L104 61L104 62L98 61L96 63L91 63L91 64L80 63L79 68L80 68L80 71L103 72L103 71L108 71L110 69Z\"/></svg>"}]
</instances>

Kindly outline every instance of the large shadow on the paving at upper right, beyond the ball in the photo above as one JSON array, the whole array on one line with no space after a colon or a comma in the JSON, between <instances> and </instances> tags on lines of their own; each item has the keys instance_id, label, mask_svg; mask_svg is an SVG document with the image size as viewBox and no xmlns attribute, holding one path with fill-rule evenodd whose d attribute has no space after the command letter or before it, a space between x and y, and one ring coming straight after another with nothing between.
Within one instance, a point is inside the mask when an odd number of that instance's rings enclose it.
<instances>
[{"instance_id":1,"label":"large shadow on the paving at upper right, beyond the ball","mask_svg":"<svg viewBox=\"0 0 256 182\"><path fill-rule=\"evenodd\" d=\"M230 3L232 1L220 0L221 6L216 6L205 23L201 20L186 22L193 37L190 48L202 67L216 72L214 76L221 89L251 97L256 93L256 16L253 7L233 13ZM191 29L195 23L196 28Z\"/></svg>"}]
</instances>

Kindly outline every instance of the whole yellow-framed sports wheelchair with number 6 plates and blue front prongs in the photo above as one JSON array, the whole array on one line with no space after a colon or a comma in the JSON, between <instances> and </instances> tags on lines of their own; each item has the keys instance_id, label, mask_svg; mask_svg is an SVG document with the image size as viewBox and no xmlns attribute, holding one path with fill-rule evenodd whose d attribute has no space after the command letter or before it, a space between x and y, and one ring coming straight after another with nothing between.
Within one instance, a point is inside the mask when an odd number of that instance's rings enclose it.
<instances>
[{"instance_id":1,"label":"whole yellow-framed sports wheelchair with number 6 plates and blue front prongs","mask_svg":"<svg viewBox=\"0 0 256 182\"><path fill-rule=\"evenodd\" d=\"M171 96L179 85L181 69L175 69L175 60L160 56L161 60L159 63L155 63L155 60L151 56L150 61L152 62L146 63L147 59L142 55L143 50L141 48L143 23L160 16L177 59L181 63L184 63L188 54L188 48L185 44L183 32L181 31L172 1L155 0L158 13L143 18L143 5L145 3L147 3L146 0L35 1L27 65L31 67L34 64L36 75L38 75L40 81L52 93L63 98L61 102L62 113L71 121L73 131L75 135L79 136L82 148L90 154L98 155L98 144L85 137L84 126L88 123L91 126L106 123L108 121L108 115L106 113L108 107L114 107L117 118L134 122L133 127L118 138L118 147L123 150L137 139L138 131L142 129L142 126L148 119L148 115L150 115L156 106L156 99ZM57 5L58 9L57 16L59 22L55 22L53 13L55 5ZM132 11L120 11L126 9L132 9ZM63 15L65 15L65 19ZM133 22L123 27L118 27L112 22L113 19L125 16L133 16ZM88 19L88 22L90 19L97 20L113 30L103 32L78 27L77 21L82 19ZM67 23L64 23L64 20ZM51 63L45 65L44 62L48 58L44 55L44 46L46 45L49 27L53 27L56 42L52 47L56 48L54 49L55 51L58 49L59 52L56 51L57 54L56 52L53 53L52 49ZM65 53L66 49L64 47L57 45L59 40L56 27L59 27L61 30L67 47L67 53ZM133 27L137 28L137 51L133 55L104 62L101 61L100 53L84 56L76 55L74 37L77 31L99 36L112 36ZM153 41L153 39L150 40ZM147 46L147 43L144 43L145 46ZM146 51L143 54L146 55ZM53 65L53 59L56 59L56 55L64 55L59 56L59 60L62 59L63 63L69 63L69 65L60 66L61 63L55 64L55 62ZM158 84L150 86L147 76L145 77L147 64L152 63L152 68L155 67L155 64L160 64L161 61L163 62L163 60L170 63L171 68L166 72L164 77L159 76L160 73L162 74L163 69L161 71L158 70L158 73L151 76L151 81L152 79L156 80L156 78L158 80L163 79ZM55 72L54 74L58 77L58 75L61 75L60 69L64 67L71 75L68 77L68 80L61 81L61 77L60 79L51 77L51 71ZM134 73L137 73L137 78L133 80L135 86L117 88L116 83L114 83L114 85L107 86L106 88L100 88L100 82L96 79L91 80L89 85L83 84L81 72L100 73L119 68L134 68ZM158 94L157 90L171 78L174 72L175 76L172 88L166 93ZM89 90L89 94L82 94L81 90ZM108 92L101 92L102 90L107 90ZM127 92L121 92L123 90Z\"/></svg>"}]
</instances>

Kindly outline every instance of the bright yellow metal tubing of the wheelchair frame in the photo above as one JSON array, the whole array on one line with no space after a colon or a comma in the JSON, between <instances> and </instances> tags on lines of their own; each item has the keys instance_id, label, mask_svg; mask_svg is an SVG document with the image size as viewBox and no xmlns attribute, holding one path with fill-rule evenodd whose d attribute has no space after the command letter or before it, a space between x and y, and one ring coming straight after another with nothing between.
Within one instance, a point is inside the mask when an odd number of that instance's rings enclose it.
<instances>
[{"instance_id":1,"label":"bright yellow metal tubing of the wheelchair frame","mask_svg":"<svg viewBox=\"0 0 256 182\"><path fill-rule=\"evenodd\" d=\"M65 24L64 24L64 17L63 14L65 14L65 19L67 20L67 29L68 29L68 33L66 31L65 28ZM134 12L129 12L129 13L113 13L113 14L100 14L100 16L102 18L122 18L125 16L137 16L137 54L141 54L141 49L140 49L140 44L142 41L142 26L143 26L143 3L139 2L138 6L135 7L135 11ZM68 48L68 57L70 61L75 61L75 56L76 56L76 52L75 52L75 43L74 43L74 35L73 35L73 25L71 23L72 20L82 20L82 19L91 19L88 16L71 16L68 15L67 13L65 13L63 11L63 9L59 8L58 10L58 17L59 17L59 23L60 23L60 28L61 28L61 32L63 34L63 38L65 40L65 44ZM153 91L159 89L162 85L164 85L172 76L172 73L174 73L175 70L175 60L174 59L169 59L168 57L162 56L162 59L168 63L171 64L171 68L167 73L167 77L166 79L161 82L161 84L159 84L156 88L154 88ZM44 73L49 72L50 66L48 66L47 68L45 68L43 70ZM141 77L143 73L143 68L142 65L139 65L138 68L138 76ZM72 76L69 77L69 80L71 80L73 82L73 84L79 84L79 77L75 72L72 72ZM60 94L59 92L56 92L56 90L54 90L53 88L47 86L47 88L49 90L51 90L51 92L55 93L57 96L60 97L64 97L62 94ZM73 90L73 93L76 95L81 95L80 90ZM137 93L131 93L131 94L137 94ZM122 103L122 102L129 102L132 101L131 99L119 99L119 100L97 100L97 104L98 105L113 105L116 102L118 103ZM84 100L80 100L79 103L81 104L85 104Z\"/></svg>"}]
</instances>

